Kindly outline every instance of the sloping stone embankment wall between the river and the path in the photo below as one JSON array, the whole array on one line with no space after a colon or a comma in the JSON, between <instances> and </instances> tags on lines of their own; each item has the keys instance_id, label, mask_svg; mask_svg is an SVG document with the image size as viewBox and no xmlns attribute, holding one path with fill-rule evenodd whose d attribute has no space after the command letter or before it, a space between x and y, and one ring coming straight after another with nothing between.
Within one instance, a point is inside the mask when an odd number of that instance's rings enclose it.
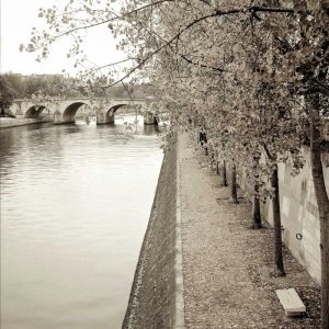
<instances>
[{"instance_id":1,"label":"sloping stone embankment wall between the river and the path","mask_svg":"<svg viewBox=\"0 0 329 329\"><path fill-rule=\"evenodd\" d=\"M177 143L173 140L164 154L122 328L177 327L175 243Z\"/></svg>"}]
</instances>

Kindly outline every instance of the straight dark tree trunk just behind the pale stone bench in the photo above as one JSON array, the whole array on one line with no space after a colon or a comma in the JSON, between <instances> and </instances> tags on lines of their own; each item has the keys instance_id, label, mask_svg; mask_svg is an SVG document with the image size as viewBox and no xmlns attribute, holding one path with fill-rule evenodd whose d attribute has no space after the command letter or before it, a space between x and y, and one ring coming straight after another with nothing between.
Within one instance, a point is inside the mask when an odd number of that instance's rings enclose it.
<instances>
[{"instance_id":1,"label":"straight dark tree trunk just behind the pale stone bench","mask_svg":"<svg viewBox=\"0 0 329 329\"><path fill-rule=\"evenodd\" d=\"M275 194L272 200L273 205L273 228L274 228L274 275L284 276L283 257L282 257L282 232L281 232L281 213L280 213L280 195L279 195L279 172L277 166L273 170L271 177L272 188Z\"/></svg>"}]
</instances>

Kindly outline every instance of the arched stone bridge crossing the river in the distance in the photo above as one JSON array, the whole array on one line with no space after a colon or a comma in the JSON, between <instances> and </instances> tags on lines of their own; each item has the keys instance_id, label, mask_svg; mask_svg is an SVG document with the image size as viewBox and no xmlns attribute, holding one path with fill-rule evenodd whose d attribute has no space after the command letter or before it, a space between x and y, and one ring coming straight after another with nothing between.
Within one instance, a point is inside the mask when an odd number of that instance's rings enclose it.
<instances>
[{"instance_id":1,"label":"arched stone bridge crossing the river in the distance","mask_svg":"<svg viewBox=\"0 0 329 329\"><path fill-rule=\"evenodd\" d=\"M151 99L63 99L54 102L15 100L10 112L18 118L41 118L43 114L53 117L54 124L73 123L82 106L89 107L97 117L97 124L113 124L115 113L123 106L134 106L144 115L144 124L157 124L157 105Z\"/></svg>"}]
</instances>

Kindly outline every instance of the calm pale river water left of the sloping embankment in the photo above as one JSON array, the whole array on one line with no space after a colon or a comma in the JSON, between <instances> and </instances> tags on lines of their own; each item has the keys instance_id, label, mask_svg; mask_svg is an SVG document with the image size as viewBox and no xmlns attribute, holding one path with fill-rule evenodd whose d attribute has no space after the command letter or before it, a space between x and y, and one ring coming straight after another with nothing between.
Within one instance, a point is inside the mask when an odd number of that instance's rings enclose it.
<instances>
[{"instance_id":1,"label":"calm pale river water left of the sloping embankment","mask_svg":"<svg viewBox=\"0 0 329 329\"><path fill-rule=\"evenodd\" d=\"M1 329L121 328L162 161L125 127L0 131Z\"/></svg>"}]
</instances>

